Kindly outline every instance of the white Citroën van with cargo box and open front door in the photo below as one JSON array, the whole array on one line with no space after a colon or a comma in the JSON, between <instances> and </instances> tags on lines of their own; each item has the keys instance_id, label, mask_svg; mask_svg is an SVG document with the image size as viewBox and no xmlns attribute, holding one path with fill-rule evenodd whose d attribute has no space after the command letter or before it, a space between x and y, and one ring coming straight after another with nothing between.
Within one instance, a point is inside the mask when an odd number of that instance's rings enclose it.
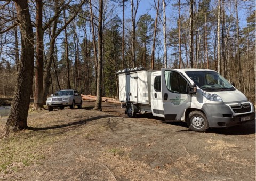
<instances>
[{"instance_id":1,"label":"white Citro\u00ebn van with cargo box and open front door","mask_svg":"<svg viewBox=\"0 0 256 181\"><path fill-rule=\"evenodd\" d=\"M254 105L218 72L209 69L125 69L119 99L125 113L151 112L165 121L183 121L193 131L255 120Z\"/></svg>"}]
</instances>

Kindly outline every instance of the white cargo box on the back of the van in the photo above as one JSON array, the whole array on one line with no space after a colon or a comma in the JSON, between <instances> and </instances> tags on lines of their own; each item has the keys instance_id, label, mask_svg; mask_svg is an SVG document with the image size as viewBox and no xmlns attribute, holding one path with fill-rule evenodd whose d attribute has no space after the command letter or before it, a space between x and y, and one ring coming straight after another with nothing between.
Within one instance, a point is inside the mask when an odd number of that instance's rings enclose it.
<instances>
[{"instance_id":1,"label":"white cargo box on the back of the van","mask_svg":"<svg viewBox=\"0 0 256 181\"><path fill-rule=\"evenodd\" d=\"M150 104L151 73L156 70L119 74L119 100Z\"/></svg>"}]
</instances>

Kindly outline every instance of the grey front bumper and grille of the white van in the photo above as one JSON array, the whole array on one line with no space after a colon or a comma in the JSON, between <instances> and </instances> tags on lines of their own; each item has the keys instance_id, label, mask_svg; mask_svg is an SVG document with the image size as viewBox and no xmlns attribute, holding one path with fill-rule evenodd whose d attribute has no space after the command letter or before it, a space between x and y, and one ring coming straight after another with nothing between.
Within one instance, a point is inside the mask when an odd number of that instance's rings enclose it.
<instances>
[{"instance_id":1,"label":"grey front bumper and grille of the white van","mask_svg":"<svg viewBox=\"0 0 256 181\"><path fill-rule=\"evenodd\" d=\"M205 103L202 110L206 114L210 128L230 127L247 121L255 121L255 109L251 102Z\"/></svg>"}]
</instances>

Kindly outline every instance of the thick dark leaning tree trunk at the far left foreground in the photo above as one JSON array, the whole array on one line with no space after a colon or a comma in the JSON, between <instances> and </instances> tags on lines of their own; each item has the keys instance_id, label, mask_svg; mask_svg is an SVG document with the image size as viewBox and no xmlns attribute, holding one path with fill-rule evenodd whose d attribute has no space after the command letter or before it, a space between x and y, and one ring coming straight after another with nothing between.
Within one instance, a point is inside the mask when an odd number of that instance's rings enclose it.
<instances>
[{"instance_id":1,"label":"thick dark leaning tree trunk at the far left foreground","mask_svg":"<svg viewBox=\"0 0 256 181\"><path fill-rule=\"evenodd\" d=\"M2 136L10 132L27 129L27 117L33 84L34 34L27 1L15 0L17 18L21 32L21 57L13 104Z\"/></svg>"}]
</instances>

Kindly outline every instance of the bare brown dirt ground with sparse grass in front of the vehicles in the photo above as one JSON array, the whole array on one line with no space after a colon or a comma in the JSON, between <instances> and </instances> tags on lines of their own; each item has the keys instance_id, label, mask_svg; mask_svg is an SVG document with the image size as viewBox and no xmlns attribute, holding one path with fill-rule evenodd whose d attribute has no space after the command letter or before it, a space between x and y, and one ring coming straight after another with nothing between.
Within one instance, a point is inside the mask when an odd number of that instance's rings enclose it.
<instances>
[{"instance_id":1,"label":"bare brown dirt ground with sparse grass in front of the vehicles","mask_svg":"<svg viewBox=\"0 0 256 181\"><path fill-rule=\"evenodd\" d=\"M0 180L255 180L255 121L196 133L94 104L29 113L29 130L0 141Z\"/></svg>"}]
</instances>

